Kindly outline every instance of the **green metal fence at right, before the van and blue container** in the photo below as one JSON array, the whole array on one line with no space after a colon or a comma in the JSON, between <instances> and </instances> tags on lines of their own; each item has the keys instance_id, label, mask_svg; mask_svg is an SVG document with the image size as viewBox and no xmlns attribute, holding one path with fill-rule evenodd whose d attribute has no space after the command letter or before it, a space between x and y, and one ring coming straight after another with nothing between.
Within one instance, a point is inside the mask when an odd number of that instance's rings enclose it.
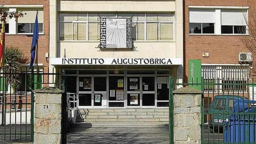
<instances>
[{"instance_id":1,"label":"green metal fence at right, before the van and blue container","mask_svg":"<svg viewBox=\"0 0 256 144\"><path fill-rule=\"evenodd\" d=\"M197 79L183 83L170 77L170 143L173 143L173 94L178 87L200 85L202 143L256 143L254 79Z\"/></svg>"}]
</instances>

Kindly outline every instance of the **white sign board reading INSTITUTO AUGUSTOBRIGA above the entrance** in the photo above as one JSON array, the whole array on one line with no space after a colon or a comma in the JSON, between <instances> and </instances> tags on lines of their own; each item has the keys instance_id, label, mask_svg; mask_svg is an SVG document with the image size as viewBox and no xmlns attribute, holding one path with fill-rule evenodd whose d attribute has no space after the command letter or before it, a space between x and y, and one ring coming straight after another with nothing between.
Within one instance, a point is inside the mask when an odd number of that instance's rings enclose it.
<instances>
[{"instance_id":1,"label":"white sign board reading INSTITUTO AUGUSTOBRIGA above the entrance","mask_svg":"<svg viewBox=\"0 0 256 144\"><path fill-rule=\"evenodd\" d=\"M51 65L182 65L182 58L51 58Z\"/></svg>"}]
</instances>

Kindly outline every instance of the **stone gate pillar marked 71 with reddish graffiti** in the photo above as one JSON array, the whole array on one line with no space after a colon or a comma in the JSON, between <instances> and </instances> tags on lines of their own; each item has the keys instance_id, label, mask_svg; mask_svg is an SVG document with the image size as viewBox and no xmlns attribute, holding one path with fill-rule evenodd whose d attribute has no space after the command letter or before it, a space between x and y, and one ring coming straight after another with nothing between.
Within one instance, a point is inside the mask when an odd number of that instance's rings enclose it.
<instances>
[{"instance_id":1,"label":"stone gate pillar marked 71 with reddish graffiti","mask_svg":"<svg viewBox=\"0 0 256 144\"><path fill-rule=\"evenodd\" d=\"M34 90L34 143L62 143L62 97L64 91L55 87Z\"/></svg>"}]
</instances>

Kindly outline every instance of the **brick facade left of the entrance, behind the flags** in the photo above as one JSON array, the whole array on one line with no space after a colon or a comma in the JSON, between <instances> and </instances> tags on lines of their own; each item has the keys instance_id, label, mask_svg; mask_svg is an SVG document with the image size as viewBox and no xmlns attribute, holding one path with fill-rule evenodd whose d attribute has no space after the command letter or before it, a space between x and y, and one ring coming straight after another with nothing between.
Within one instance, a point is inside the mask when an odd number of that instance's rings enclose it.
<instances>
[{"instance_id":1,"label":"brick facade left of the entrance, behind the flags","mask_svg":"<svg viewBox=\"0 0 256 144\"><path fill-rule=\"evenodd\" d=\"M49 58L45 58L45 53L49 53L49 0L0 0L1 5L43 5L44 8L44 24L43 35L39 35L38 39L38 63L44 65L44 72L48 72ZM26 15L24 15L26 17ZM30 62L30 49L32 43L32 35L6 35L6 47L19 47ZM44 77L47 82L47 75Z\"/></svg>"}]
</instances>

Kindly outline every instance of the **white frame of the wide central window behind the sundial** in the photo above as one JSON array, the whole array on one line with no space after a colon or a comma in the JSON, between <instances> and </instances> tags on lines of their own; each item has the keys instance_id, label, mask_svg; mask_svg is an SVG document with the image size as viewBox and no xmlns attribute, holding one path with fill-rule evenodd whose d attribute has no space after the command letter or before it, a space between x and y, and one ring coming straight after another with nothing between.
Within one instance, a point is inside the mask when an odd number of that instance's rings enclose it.
<instances>
[{"instance_id":1,"label":"white frame of the wide central window behind the sundial","mask_svg":"<svg viewBox=\"0 0 256 144\"><path fill-rule=\"evenodd\" d=\"M63 12L65 13L65 12ZM100 21L89 21L89 17L88 17L88 14L90 13L84 13L87 15L87 20L86 21L60 21L59 18L60 18L60 15L61 13L58 14L58 41L59 42L99 42L100 40L89 40L89 23L100 23ZM141 14L141 13L140 13ZM174 41L175 40L175 25L174 25L174 14L173 14L173 21L146 21L146 13L143 13L144 14L144 21L134 21L132 22L133 24L137 24L137 23L144 23L144 40L132 40L132 41L135 41L135 42L168 42L168 41ZM118 15L118 14L117 14ZM72 40L60 40L60 23L63 22L70 22L72 23L72 26L73 26L73 38ZM86 23L86 40L74 40L74 23ZM160 23L172 23L173 24L173 39L172 40L161 40L159 38L159 40L147 40L147 23L158 23L159 24L159 30L157 31L157 37L161 37L161 33L159 33L161 30L160 30Z\"/></svg>"}]
</instances>

